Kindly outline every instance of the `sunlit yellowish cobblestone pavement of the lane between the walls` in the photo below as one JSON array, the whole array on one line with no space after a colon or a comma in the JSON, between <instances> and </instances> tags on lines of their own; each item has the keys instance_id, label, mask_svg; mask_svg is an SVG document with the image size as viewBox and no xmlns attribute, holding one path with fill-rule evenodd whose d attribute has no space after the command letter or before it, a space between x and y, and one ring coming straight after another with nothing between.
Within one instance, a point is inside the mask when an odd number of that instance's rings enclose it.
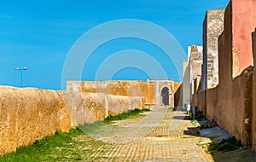
<instances>
[{"instance_id":1,"label":"sunlit yellowish cobblestone pavement of the lane between the walls","mask_svg":"<svg viewBox=\"0 0 256 162\"><path fill-rule=\"evenodd\" d=\"M183 111L161 107L143 119L128 119L91 133L102 145L93 148L91 161L213 161L197 142ZM81 138L81 137L80 137Z\"/></svg>"}]
</instances>

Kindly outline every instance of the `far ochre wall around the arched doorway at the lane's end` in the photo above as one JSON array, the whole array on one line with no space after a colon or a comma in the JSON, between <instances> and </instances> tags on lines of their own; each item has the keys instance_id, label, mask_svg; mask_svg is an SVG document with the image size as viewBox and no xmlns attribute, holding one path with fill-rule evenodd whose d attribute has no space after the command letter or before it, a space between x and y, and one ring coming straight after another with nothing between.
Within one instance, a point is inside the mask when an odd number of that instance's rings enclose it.
<instances>
[{"instance_id":1,"label":"far ochre wall around the arched doorway at the lane's end","mask_svg":"<svg viewBox=\"0 0 256 162\"><path fill-rule=\"evenodd\" d=\"M125 80L67 82L67 90L110 95L141 96L143 97L143 103L146 105L154 105L160 102L160 93L164 87L168 87L170 90L170 107L174 107L174 81L169 79L149 79L147 82Z\"/></svg>"}]
</instances>

